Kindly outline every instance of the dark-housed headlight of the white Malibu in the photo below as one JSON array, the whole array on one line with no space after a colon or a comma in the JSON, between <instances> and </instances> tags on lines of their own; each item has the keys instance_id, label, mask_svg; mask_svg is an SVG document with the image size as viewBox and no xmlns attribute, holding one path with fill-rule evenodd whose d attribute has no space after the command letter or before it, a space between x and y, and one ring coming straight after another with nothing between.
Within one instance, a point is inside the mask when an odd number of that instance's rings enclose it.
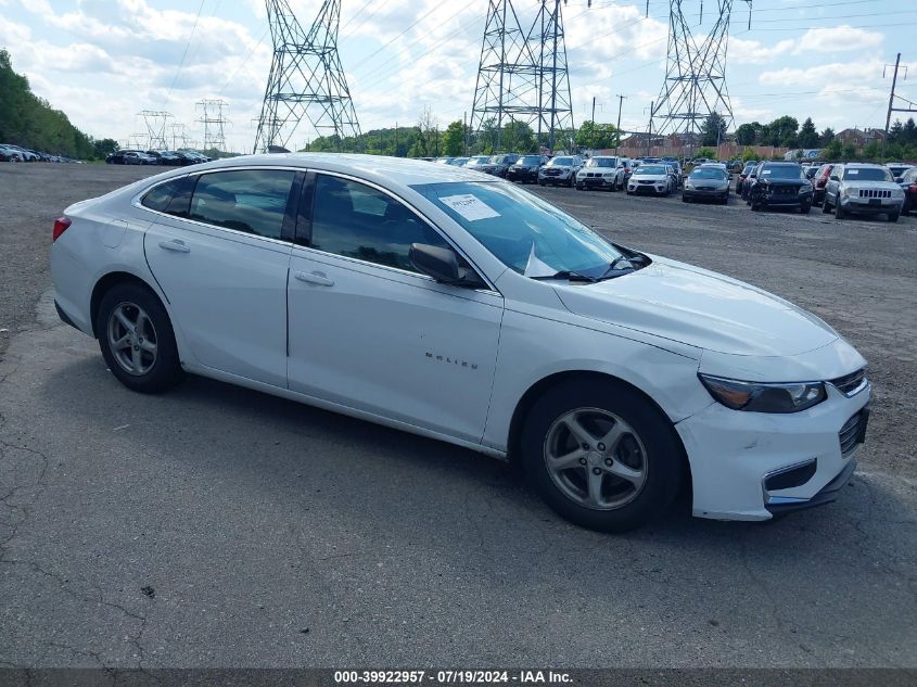
<instances>
[{"instance_id":1,"label":"dark-housed headlight of the white Malibu","mask_svg":"<svg viewBox=\"0 0 917 687\"><path fill-rule=\"evenodd\" d=\"M823 382L765 384L698 373L710 395L733 410L799 412L828 397Z\"/></svg>"}]
</instances>

